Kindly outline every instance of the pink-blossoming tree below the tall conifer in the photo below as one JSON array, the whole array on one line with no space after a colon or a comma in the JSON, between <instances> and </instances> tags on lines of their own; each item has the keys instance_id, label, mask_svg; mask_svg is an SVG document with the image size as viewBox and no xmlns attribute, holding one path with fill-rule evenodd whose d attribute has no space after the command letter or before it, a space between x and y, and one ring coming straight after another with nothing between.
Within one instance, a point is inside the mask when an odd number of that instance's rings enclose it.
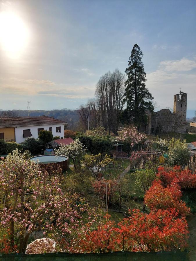
<instances>
[{"instance_id":1,"label":"pink-blossoming tree below the tall conifer","mask_svg":"<svg viewBox=\"0 0 196 261\"><path fill-rule=\"evenodd\" d=\"M146 135L144 133L139 133L135 126L131 126L129 128L124 128L119 132L118 139L129 143L130 147L133 147L135 144L143 142L146 139Z\"/></svg>"}]
</instances>

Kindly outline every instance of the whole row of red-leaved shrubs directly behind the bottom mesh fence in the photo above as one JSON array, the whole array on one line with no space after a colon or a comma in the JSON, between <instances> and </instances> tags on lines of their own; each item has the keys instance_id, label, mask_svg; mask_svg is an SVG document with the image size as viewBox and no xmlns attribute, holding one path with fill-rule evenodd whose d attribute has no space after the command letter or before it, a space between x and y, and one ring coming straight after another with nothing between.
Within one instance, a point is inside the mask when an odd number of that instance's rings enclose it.
<instances>
[{"instance_id":1,"label":"whole row of red-leaved shrubs directly behind the bottom mesh fence","mask_svg":"<svg viewBox=\"0 0 196 261\"><path fill-rule=\"evenodd\" d=\"M177 218L174 210L152 211L150 214L139 210L130 211L116 227L114 222L100 224L93 231L80 233L74 241L71 252L108 251L171 251L187 247L188 225L185 218Z\"/></svg>"}]
</instances>

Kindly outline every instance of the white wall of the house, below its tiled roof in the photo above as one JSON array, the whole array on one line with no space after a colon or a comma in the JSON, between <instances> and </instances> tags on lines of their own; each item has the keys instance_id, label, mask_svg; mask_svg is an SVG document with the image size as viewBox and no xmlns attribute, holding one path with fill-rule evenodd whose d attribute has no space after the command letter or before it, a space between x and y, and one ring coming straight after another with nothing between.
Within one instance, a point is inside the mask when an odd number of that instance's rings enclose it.
<instances>
[{"instance_id":1,"label":"white wall of the house, below its tiled roof","mask_svg":"<svg viewBox=\"0 0 196 261\"><path fill-rule=\"evenodd\" d=\"M38 138L37 135L37 129L44 128L44 130L49 131L49 128L52 127L52 135L64 137L64 125L63 124L51 124L51 125L36 125L36 126L19 126L15 128L15 134L16 134L16 143L23 142L26 138L23 138L23 130L29 130L32 134L31 137ZM56 132L56 127L61 127L61 132Z\"/></svg>"}]
</instances>

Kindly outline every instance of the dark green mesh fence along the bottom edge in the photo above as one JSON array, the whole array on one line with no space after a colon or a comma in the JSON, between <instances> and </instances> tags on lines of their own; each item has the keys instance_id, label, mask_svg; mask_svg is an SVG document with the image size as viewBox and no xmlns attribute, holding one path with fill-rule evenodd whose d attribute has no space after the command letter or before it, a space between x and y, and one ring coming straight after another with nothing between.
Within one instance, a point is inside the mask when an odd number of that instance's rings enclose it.
<instances>
[{"instance_id":1,"label":"dark green mesh fence along the bottom edge","mask_svg":"<svg viewBox=\"0 0 196 261\"><path fill-rule=\"evenodd\" d=\"M86 254L69 254L69 253L46 253L46 254L8 254L1 255L0 261L184 261L188 260L187 252L111 252L111 253L86 253Z\"/></svg>"}]
</instances>

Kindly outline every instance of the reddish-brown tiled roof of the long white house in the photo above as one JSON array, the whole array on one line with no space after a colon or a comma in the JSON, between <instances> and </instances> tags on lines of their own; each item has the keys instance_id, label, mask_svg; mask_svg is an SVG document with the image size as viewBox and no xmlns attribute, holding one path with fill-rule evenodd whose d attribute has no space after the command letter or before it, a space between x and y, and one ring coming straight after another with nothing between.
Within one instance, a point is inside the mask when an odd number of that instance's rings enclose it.
<instances>
[{"instance_id":1,"label":"reddish-brown tiled roof of the long white house","mask_svg":"<svg viewBox=\"0 0 196 261\"><path fill-rule=\"evenodd\" d=\"M34 125L65 124L66 122L48 116L0 117L0 128Z\"/></svg>"}]
</instances>

